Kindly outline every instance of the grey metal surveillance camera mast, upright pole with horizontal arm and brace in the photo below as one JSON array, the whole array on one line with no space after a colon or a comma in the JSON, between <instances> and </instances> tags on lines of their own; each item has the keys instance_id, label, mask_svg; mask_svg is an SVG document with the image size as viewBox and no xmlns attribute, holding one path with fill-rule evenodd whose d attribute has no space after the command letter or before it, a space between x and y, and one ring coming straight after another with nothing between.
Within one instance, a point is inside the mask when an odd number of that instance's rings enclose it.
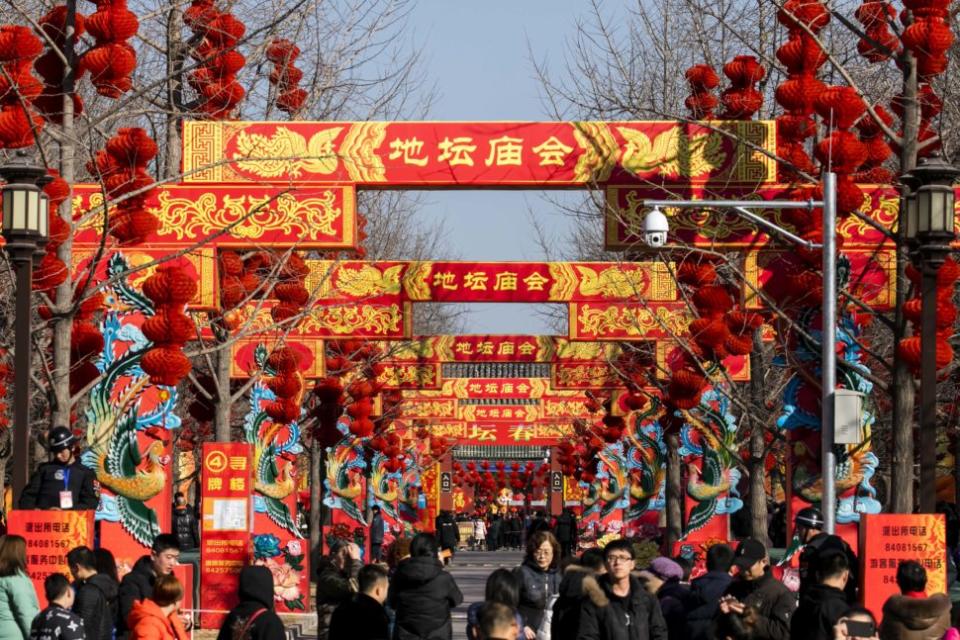
<instances>
[{"instance_id":1,"label":"grey metal surveillance camera mast, upright pole with horizontal arm and brace","mask_svg":"<svg viewBox=\"0 0 960 640\"><path fill-rule=\"evenodd\" d=\"M760 227L783 236L807 249L823 253L823 316L821 322L821 419L820 454L823 495L821 507L824 527L833 533L836 525L837 496L835 489L837 458L834 453L834 399L837 386L837 176L823 175L823 200L645 200L644 207L678 207L685 209L722 208L734 211ZM814 243L791 233L751 209L815 209L823 211L823 242ZM662 244L662 241L658 243Z\"/></svg>"}]
</instances>

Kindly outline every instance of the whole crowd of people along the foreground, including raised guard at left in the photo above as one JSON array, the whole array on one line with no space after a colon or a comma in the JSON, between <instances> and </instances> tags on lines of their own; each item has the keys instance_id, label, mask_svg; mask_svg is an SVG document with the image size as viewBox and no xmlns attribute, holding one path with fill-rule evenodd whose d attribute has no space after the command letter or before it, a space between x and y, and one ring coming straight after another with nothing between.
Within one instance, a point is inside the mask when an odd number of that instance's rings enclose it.
<instances>
[{"instance_id":1,"label":"whole crowd of people along the foreground, including raised guard at left","mask_svg":"<svg viewBox=\"0 0 960 640\"><path fill-rule=\"evenodd\" d=\"M34 475L21 507L89 506L92 474L76 461L72 434L54 429L50 443L52 459ZM463 595L445 565L461 544L461 522L442 512L436 535L399 538L384 549L386 527L374 507L367 562L356 544L338 543L317 567L318 640L449 640L451 612ZM951 548L958 523L947 518ZM760 540L711 546L706 573L690 580L693 565L682 557L638 567L626 539L575 556L578 525L570 510L552 522L514 509L465 524L475 549L525 549L519 566L489 575L484 600L469 607L471 640L960 640L950 599L925 595L926 570L914 561L898 565L899 593L884 603L878 625L875 612L858 604L856 555L823 531L812 507L794 522L796 592L776 577ZM122 580L106 549L71 549L70 575L44 582L42 611L28 578L26 540L0 537L0 640L186 640L194 620L182 610L185 586L174 568L198 537L196 516L177 494L173 533L158 535ZM268 568L243 568L237 598L218 640L285 638Z\"/></svg>"}]
</instances>

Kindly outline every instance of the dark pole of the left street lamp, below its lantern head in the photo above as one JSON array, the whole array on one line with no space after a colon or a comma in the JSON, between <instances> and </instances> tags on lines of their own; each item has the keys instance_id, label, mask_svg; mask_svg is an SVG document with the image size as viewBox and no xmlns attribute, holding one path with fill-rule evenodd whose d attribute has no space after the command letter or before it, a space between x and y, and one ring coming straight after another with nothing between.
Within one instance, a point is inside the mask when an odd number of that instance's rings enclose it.
<instances>
[{"instance_id":1,"label":"dark pole of the left street lamp, below its lantern head","mask_svg":"<svg viewBox=\"0 0 960 640\"><path fill-rule=\"evenodd\" d=\"M16 504L30 480L30 296L33 286L33 247L7 246L17 272L13 350L12 487Z\"/></svg>"}]
</instances>

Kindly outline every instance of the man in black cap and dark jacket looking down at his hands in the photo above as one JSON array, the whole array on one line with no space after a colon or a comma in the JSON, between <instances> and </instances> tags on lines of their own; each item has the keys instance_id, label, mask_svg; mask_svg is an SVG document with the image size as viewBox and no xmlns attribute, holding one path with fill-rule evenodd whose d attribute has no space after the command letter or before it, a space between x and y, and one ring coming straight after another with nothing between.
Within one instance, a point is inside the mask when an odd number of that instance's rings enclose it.
<instances>
[{"instance_id":1,"label":"man in black cap and dark jacket looking down at his hands","mask_svg":"<svg viewBox=\"0 0 960 640\"><path fill-rule=\"evenodd\" d=\"M767 547L753 538L743 540L733 557L738 573L720 598L718 616L756 613L753 620L756 640L789 640L790 618L797 600L787 587L770 573Z\"/></svg>"}]
</instances>

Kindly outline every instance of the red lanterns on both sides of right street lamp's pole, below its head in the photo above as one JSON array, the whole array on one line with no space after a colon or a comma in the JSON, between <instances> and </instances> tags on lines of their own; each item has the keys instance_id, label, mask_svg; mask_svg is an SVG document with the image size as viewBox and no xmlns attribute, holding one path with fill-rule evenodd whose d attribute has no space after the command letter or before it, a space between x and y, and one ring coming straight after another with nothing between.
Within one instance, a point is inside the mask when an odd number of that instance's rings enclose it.
<instances>
[{"instance_id":1,"label":"red lanterns on both sides of right street lamp's pole, below its head","mask_svg":"<svg viewBox=\"0 0 960 640\"><path fill-rule=\"evenodd\" d=\"M900 340L897 350L903 361L916 375L920 374L920 322L922 302L920 272L911 266L907 267L907 276L913 285L914 295L903 305L904 317L913 325L914 335ZM950 336L953 333L954 323L957 320L957 307L953 303L953 293L957 280L960 279L960 265L948 257L937 271L937 370L944 369L953 361L953 347L950 346Z\"/></svg>"}]
</instances>

